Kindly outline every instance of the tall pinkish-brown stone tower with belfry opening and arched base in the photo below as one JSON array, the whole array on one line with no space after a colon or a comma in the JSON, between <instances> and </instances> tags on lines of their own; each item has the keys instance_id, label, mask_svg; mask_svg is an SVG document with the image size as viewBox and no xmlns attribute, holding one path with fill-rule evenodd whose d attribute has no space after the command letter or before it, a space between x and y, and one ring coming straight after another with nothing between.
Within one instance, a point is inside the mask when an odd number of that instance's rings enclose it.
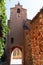
<instances>
[{"instance_id":1,"label":"tall pinkish-brown stone tower with belfry opening and arched base","mask_svg":"<svg viewBox=\"0 0 43 65\"><path fill-rule=\"evenodd\" d=\"M18 3L14 8L10 9L10 20L8 21L8 27L10 32L7 35L6 40L6 57L9 63L12 50L14 48L20 48L24 60L24 33L23 24L27 19L27 10L22 8L22 5ZM24 61L23 61L24 63Z\"/></svg>"}]
</instances>

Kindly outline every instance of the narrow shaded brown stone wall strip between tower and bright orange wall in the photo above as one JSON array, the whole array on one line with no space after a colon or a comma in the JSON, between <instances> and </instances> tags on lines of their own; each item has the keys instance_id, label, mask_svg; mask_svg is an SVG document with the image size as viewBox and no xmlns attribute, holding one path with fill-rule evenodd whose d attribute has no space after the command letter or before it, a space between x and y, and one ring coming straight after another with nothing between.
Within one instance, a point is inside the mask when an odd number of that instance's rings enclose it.
<instances>
[{"instance_id":1,"label":"narrow shaded brown stone wall strip between tower and bright orange wall","mask_svg":"<svg viewBox=\"0 0 43 65\"><path fill-rule=\"evenodd\" d=\"M25 35L25 43L24 43L24 47L25 47L25 54L24 54L24 61L25 61L25 65L32 65L33 64L33 60L32 60L32 48L31 48L31 41L30 41L30 30L25 29L24 30L24 35Z\"/></svg>"}]
</instances>

